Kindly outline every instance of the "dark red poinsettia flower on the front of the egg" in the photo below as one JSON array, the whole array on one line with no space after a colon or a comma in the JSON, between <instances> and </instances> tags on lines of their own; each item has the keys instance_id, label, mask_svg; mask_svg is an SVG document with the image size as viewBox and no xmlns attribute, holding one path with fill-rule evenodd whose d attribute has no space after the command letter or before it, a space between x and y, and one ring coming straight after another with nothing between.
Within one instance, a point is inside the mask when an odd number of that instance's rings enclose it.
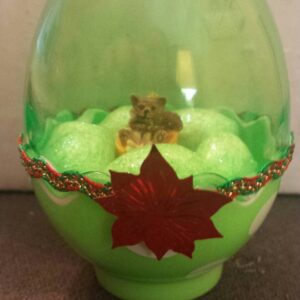
<instances>
[{"instance_id":1,"label":"dark red poinsettia flower on the front of the egg","mask_svg":"<svg viewBox=\"0 0 300 300\"><path fill-rule=\"evenodd\" d=\"M117 217L113 248L144 242L157 259L169 250L192 257L196 240L222 237L210 218L231 199L178 179L155 146L140 175L111 171L111 182L114 194L98 202Z\"/></svg>"}]
</instances>

